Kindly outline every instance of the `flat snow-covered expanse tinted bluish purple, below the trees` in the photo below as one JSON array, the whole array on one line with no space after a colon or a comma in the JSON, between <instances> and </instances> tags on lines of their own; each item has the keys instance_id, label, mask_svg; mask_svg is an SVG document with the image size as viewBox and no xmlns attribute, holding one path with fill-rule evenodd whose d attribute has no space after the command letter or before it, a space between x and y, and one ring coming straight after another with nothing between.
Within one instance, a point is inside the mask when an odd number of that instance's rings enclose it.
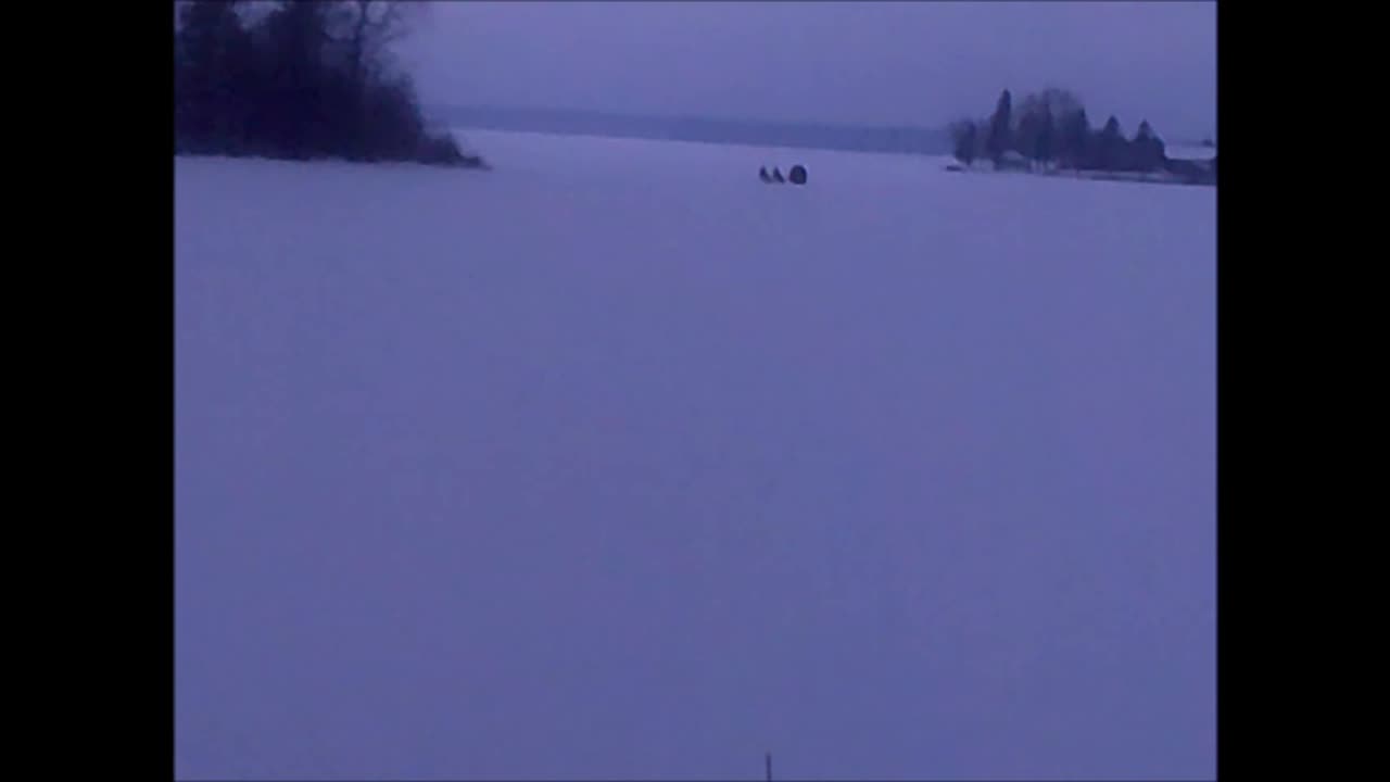
<instances>
[{"instance_id":1,"label":"flat snow-covered expanse tinted bluish purple, below the trees","mask_svg":"<svg viewBox=\"0 0 1390 782\"><path fill-rule=\"evenodd\" d=\"M181 778L1215 775L1213 188L466 136L177 161Z\"/></svg>"}]
</instances>

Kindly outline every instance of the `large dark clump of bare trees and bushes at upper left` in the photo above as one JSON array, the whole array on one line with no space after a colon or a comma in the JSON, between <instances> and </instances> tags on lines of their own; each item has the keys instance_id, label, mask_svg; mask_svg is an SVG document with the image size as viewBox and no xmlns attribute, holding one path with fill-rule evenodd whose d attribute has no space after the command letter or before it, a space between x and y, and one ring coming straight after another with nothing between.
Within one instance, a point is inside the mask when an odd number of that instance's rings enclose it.
<instances>
[{"instance_id":1,"label":"large dark clump of bare trees and bushes at upper left","mask_svg":"<svg viewBox=\"0 0 1390 782\"><path fill-rule=\"evenodd\" d=\"M174 149L481 166L391 67L404 3L193 0L174 31Z\"/></svg>"}]
</instances>

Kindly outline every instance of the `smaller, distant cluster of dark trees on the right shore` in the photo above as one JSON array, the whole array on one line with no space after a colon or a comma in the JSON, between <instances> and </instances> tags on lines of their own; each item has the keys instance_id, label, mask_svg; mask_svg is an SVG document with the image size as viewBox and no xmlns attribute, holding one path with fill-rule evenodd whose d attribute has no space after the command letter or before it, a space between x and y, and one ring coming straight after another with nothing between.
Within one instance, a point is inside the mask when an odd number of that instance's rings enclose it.
<instances>
[{"instance_id":1,"label":"smaller, distant cluster of dark trees on the right shore","mask_svg":"<svg viewBox=\"0 0 1390 782\"><path fill-rule=\"evenodd\" d=\"M1163 139L1147 121L1134 138L1125 138L1113 115L1095 131L1086 107L1068 90L1047 89L1029 95L1015 110L1004 90L987 120L962 120L951 125L955 157L965 164L990 160L998 168L1017 153L1031 166L1095 171L1156 171L1168 167Z\"/></svg>"}]
</instances>

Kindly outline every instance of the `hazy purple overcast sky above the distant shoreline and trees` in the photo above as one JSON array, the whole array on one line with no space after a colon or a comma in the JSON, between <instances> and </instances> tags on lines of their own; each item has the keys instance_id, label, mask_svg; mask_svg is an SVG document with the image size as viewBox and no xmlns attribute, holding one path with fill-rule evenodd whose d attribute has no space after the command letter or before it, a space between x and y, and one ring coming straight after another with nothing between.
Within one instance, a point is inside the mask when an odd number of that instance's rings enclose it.
<instances>
[{"instance_id":1,"label":"hazy purple overcast sky above the distant shoreline and trees","mask_svg":"<svg viewBox=\"0 0 1390 782\"><path fill-rule=\"evenodd\" d=\"M399 51L431 104L941 125L1056 85L1216 129L1215 3L439 3Z\"/></svg>"}]
</instances>

